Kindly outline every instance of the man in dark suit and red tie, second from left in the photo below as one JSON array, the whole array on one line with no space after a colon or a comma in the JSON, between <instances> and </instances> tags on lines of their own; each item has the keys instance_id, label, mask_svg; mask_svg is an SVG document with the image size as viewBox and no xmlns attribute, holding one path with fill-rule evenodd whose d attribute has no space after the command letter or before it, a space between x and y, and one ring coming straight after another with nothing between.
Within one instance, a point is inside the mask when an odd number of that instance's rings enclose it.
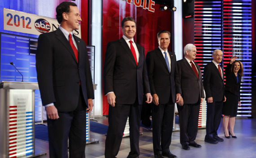
<instances>
[{"instance_id":1,"label":"man in dark suit and red tie, second from left","mask_svg":"<svg viewBox=\"0 0 256 158\"><path fill-rule=\"evenodd\" d=\"M152 101L145 62L145 52L134 42L136 21L126 17L121 22L123 37L109 42L104 64L104 93L109 103L109 127L105 158L115 158L129 117L131 151L128 158L138 158L141 105L143 93Z\"/></svg>"}]
</instances>

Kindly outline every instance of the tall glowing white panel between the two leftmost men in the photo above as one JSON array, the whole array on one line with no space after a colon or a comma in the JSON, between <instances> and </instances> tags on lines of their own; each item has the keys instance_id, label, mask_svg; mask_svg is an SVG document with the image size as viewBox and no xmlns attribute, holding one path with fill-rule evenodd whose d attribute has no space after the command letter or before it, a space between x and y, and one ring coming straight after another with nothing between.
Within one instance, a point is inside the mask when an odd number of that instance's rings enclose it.
<instances>
[{"instance_id":1,"label":"tall glowing white panel between the two leftmost men","mask_svg":"<svg viewBox=\"0 0 256 158\"><path fill-rule=\"evenodd\" d=\"M95 46L94 115L102 116L102 0L92 0L92 45Z\"/></svg>"}]
</instances>

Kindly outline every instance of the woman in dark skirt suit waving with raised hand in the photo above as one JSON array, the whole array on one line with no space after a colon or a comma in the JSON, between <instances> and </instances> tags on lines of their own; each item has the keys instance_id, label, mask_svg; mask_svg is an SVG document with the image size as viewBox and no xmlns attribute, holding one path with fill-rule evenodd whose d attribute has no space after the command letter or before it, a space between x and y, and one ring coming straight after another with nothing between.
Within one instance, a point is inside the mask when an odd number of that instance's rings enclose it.
<instances>
[{"instance_id":1,"label":"woman in dark skirt suit waving with raised hand","mask_svg":"<svg viewBox=\"0 0 256 158\"><path fill-rule=\"evenodd\" d=\"M234 134L235 116L237 115L238 106L240 102L240 85L243 76L243 64L241 61L236 60L237 57L231 57L230 63L225 70L226 84L225 84L225 97L226 102L223 105L223 125L225 138L237 138ZM228 124L230 123L230 132L228 131Z\"/></svg>"}]
</instances>

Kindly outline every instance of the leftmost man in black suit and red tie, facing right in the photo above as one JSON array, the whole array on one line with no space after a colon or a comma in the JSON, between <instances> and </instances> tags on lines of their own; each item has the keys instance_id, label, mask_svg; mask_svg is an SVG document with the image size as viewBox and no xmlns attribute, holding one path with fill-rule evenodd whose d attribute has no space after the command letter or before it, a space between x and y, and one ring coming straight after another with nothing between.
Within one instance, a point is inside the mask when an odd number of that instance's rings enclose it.
<instances>
[{"instance_id":1,"label":"leftmost man in black suit and red tie, facing right","mask_svg":"<svg viewBox=\"0 0 256 158\"><path fill-rule=\"evenodd\" d=\"M88 53L85 42L73 35L81 21L76 4L62 2L56 12L60 26L39 36L36 53L37 79L48 116L49 154L68 158L69 140L69 157L85 158L86 112L92 110L94 99Z\"/></svg>"}]
</instances>

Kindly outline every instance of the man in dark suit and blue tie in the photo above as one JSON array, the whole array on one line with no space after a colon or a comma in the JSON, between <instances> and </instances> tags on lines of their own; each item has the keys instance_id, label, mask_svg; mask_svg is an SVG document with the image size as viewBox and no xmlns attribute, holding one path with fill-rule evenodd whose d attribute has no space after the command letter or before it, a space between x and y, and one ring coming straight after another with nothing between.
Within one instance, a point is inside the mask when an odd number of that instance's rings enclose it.
<instances>
[{"instance_id":1,"label":"man in dark suit and blue tie","mask_svg":"<svg viewBox=\"0 0 256 158\"><path fill-rule=\"evenodd\" d=\"M167 50L171 33L157 34L159 48L148 52L146 64L153 97L152 127L155 158L176 158L170 153L175 102L180 101L181 85L176 65L176 56ZM161 142L161 143L160 143Z\"/></svg>"}]
</instances>

